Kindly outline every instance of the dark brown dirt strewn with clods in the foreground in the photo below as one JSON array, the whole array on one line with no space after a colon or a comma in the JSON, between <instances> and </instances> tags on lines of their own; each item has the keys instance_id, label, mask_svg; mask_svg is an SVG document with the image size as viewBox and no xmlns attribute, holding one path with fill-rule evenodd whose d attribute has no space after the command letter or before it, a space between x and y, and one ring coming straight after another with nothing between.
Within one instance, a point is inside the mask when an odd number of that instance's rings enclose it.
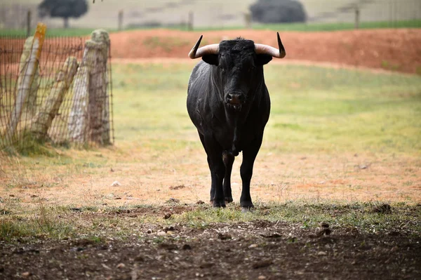
<instances>
[{"instance_id":1,"label":"dark brown dirt strewn with clods in the foreground","mask_svg":"<svg viewBox=\"0 0 421 280\"><path fill-rule=\"evenodd\" d=\"M163 215L121 212L119 219ZM189 207L178 212L191 211ZM79 215L79 214L78 214ZM86 220L89 217L84 217ZM286 222L133 225L112 238L0 242L0 279L420 279L421 239Z\"/></svg>"}]
</instances>

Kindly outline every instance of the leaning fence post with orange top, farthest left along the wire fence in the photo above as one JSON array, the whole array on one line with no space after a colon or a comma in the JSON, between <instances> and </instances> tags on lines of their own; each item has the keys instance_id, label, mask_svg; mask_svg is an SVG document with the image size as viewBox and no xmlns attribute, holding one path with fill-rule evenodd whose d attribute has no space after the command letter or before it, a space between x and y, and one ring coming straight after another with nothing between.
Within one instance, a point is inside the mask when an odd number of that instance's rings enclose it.
<instances>
[{"instance_id":1,"label":"leaning fence post with orange top, farthest left along the wire fence","mask_svg":"<svg viewBox=\"0 0 421 280\"><path fill-rule=\"evenodd\" d=\"M20 58L19 77L18 77L18 92L15 99L15 107L11 114L11 121L8 126L8 135L13 138L16 133L16 128L22 116L22 111L27 104L27 109L35 112L33 106L36 103L36 90L38 82L35 81L38 71L39 57L41 55L42 45L46 35L46 25L39 23L36 27L34 37L29 37L25 41L24 51ZM29 98L29 96L31 96Z\"/></svg>"}]
</instances>

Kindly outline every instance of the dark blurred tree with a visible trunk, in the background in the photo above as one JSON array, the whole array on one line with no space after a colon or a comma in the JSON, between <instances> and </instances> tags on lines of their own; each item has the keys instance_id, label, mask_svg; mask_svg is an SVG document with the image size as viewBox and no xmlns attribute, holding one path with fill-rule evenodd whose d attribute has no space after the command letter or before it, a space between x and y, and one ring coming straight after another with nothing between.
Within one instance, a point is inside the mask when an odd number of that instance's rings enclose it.
<instances>
[{"instance_id":1,"label":"dark blurred tree with a visible trunk, in the background","mask_svg":"<svg viewBox=\"0 0 421 280\"><path fill-rule=\"evenodd\" d=\"M69 27L69 18L79 18L88 11L86 0L43 0L38 6L41 18L49 15L52 18L63 18L64 27Z\"/></svg>"}]
</instances>

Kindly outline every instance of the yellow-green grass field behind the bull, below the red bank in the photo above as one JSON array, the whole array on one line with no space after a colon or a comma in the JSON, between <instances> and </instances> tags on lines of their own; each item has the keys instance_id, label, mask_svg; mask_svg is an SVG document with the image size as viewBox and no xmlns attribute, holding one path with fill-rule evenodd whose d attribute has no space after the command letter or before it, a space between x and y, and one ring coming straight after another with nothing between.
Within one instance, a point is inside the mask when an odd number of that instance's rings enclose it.
<instances>
[{"instance_id":1,"label":"yellow-green grass field behind the bull, below the red bank","mask_svg":"<svg viewBox=\"0 0 421 280\"><path fill-rule=\"evenodd\" d=\"M191 69L115 65L116 142L199 145L185 109ZM294 65L268 65L265 72L272 112L263 149L420 153L418 76Z\"/></svg>"}]
</instances>

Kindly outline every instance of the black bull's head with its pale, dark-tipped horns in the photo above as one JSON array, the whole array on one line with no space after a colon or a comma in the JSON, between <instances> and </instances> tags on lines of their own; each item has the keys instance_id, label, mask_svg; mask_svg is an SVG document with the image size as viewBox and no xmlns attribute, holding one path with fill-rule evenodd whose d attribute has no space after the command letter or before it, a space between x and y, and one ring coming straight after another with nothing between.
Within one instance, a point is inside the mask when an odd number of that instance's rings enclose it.
<instances>
[{"instance_id":1,"label":"black bull's head with its pale, dark-tipped horns","mask_svg":"<svg viewBox=\"0 0 421 280\"><path fill-rule=\"evenodd\" d=\"M190 51L189 58L202 58L204 62L215 65L215 79L223 88L225 103L240 110L247 100L253 99L257 87L262 84L262 66L272 58L286 55L279 33L277 36L279 49L240 38L199 48L202 35Z\"/></svg>"}]
</instances>

